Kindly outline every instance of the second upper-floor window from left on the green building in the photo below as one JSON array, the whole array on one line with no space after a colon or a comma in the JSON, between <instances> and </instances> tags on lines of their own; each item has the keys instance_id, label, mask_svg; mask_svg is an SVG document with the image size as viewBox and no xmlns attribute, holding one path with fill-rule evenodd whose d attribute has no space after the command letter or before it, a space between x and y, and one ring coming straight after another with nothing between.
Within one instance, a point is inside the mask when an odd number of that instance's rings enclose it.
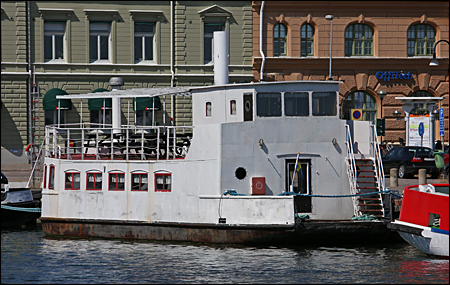
<instances>
[{"instance_id":1,"label":"second upper-floor window from left on the green building","mask_svg":"<svg viewBox=\"0 0 450 285\"><path fill-rule=\"evenodd\" d=\"M109 60L111 23L91 22L89 25L90 62Z\"/></svg>"}]
</instances>

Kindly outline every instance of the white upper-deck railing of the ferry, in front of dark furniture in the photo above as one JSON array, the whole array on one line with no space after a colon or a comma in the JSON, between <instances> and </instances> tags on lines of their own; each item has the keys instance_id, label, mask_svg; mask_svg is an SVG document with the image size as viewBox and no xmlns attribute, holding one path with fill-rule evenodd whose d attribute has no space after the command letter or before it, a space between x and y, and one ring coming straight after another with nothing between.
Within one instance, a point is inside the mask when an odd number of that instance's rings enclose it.
<instances>
[{"instance_id":1,"label":"white upper-deck railing of the ferry, in front of dark furniture","mask_svg":"<svg viewBox=\"0 0 450 285\"><path fill-rule=\"evenodd\" d=\"M52 125L45 129L45 156L71 160L183 159L192 134L192 126Z\"/></svg>"}]
</instances>

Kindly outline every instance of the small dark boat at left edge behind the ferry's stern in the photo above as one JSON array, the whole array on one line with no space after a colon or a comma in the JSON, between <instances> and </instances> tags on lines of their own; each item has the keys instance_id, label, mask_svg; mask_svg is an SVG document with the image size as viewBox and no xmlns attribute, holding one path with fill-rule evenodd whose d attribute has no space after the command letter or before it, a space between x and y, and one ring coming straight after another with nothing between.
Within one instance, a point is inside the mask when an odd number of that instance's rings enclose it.
<instances>
[{"instance_id":1,"label":"small dark boat at left edge behind the ferry's stern","mask_svg":"<svg viewBox=\"0 0 450 285\"><path fill-rule=\"evenodd\" d=\"M1 173L2 229L36 225L41 216L39 201L33 199L30 188L10 188L8 178Z\"/></svg>"}]
</instances>

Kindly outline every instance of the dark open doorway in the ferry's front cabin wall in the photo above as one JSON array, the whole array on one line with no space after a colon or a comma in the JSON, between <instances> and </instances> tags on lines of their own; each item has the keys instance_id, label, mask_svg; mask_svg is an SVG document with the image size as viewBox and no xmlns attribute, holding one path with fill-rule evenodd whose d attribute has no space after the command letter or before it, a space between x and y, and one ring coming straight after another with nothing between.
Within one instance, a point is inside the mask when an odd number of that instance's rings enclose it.
<instances>
[{"instance_id":1,"label":"dark open doorway in the ferry's front cabin wall","mask_svg":"<svg viewBox=\"0 0 450 285\"><path fill-rule=\"evenodd\" d=\"M312 194L311 191L311 160L300 160L301 168L295 172L295 159L286 160L286 190L291 191L291 186L295 193ZM294 178L294 181L292 181ZM311 197L295 196L294 204L296 213L311 213Z\"/></svg>"}]
</instances>

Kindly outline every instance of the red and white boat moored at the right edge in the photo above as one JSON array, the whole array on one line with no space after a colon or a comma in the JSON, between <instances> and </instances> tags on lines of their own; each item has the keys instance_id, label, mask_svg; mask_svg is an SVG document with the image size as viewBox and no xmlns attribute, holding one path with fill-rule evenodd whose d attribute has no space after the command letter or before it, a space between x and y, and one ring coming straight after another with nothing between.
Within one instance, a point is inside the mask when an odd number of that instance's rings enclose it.
<instances>
[{"instance_id":1,"label":"red and white boat moored at the right edge","mask_svg":"<svg viewBox=\"0 0 450 285\"><path fill-rule=\"evenodd\" d=\"M405 187L400 217L388 225L420 251L449 257L449 185Z\"/></svg>"}]
</instances>

